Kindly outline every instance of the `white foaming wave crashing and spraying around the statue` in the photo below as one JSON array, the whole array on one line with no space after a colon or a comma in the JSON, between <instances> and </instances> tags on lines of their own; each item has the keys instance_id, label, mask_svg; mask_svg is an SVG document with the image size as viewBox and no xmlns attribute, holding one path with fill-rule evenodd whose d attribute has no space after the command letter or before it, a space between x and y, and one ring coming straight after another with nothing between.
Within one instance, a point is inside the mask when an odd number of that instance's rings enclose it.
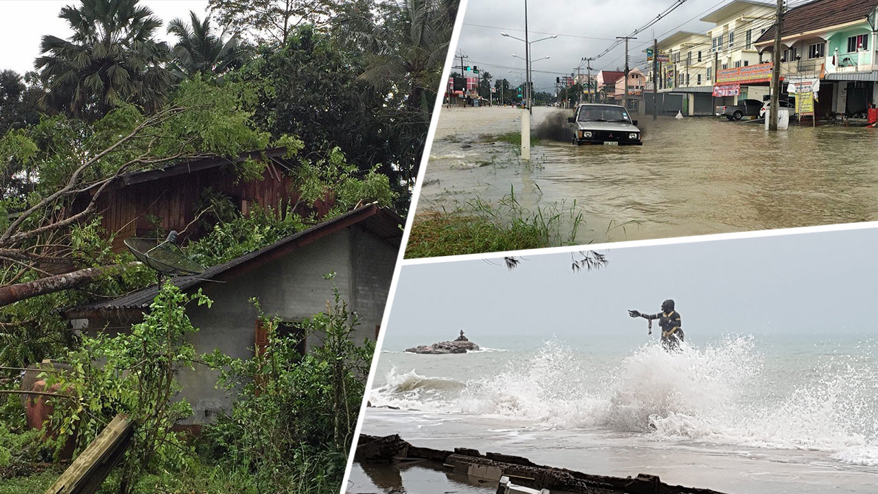
<instances>
[{"instance_id":1,"label":"white foaming wave crashing and spraying around the statue","mask_svg":"<svg viewBox=\"0 0 878 494\"><path fill-rule=\"evenodd\" d=\"M675 353L644 345L609 367L549 342L497 374L466 382L393 369L371 398L403 409L526 420L540 427L818 450L837 461L874 467L878 367L871 350L857 355L828 357L806 372L766 369L752 338L726 338Z\"/></svg>"}]
</instances>

